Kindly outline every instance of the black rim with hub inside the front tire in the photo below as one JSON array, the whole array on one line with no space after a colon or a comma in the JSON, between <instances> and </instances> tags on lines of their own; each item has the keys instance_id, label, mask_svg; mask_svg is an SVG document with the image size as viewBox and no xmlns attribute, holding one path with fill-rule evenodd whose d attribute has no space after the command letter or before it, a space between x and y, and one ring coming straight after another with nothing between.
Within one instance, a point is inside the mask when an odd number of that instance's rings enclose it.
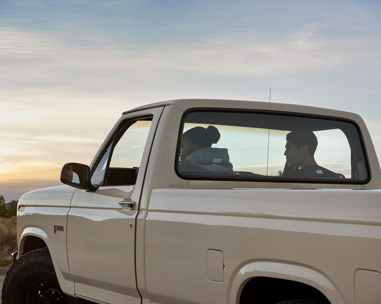
<instances>
[{"instance_id":1,"label":"black rim with hub inside the front tire","mask_svg":"<svg viewBox=\"0 0 381 304\"><path fill-rule=\"evenodd\" d=\"M25 304L65 304L66 295L57 280L39 275L27 282L21 300Z\"/></svg>"}]
</instances>

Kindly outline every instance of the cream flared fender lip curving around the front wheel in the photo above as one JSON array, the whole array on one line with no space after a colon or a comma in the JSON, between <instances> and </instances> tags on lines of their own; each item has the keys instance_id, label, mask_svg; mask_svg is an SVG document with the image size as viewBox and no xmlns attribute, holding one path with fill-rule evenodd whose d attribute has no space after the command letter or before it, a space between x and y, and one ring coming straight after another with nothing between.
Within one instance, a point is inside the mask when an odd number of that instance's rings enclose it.
<instances>
[{"instance_id":1,"label":"cream flared fender lip curving around the front wheel","mask_svg":"<svg viewBox=\"0 0 381 304\"><path fill-rule=\"evenodd\" d=\"M29 236L34 236L42 239L46 246L49 249L51 260L53 262L54 269L56 271L57 280L59 283L59 286L61 286L61 289L64 293L69 294L69 296L75 296L74 295L74 282L70 276L69 273L69 265L67 263L67 252L66 252L66 246L65 248L56 248L53 246L48 234L41 228L37 227L27 227L21 232L21 236L19 238L19 255L20 257L21 253L24 250L24 244L25 240ZM65 242L66 245L66 242ZM56 248L56 250L54 250ZM57 252L59 250L63 250L64 252Z\"/></svg>"}]
</instances>

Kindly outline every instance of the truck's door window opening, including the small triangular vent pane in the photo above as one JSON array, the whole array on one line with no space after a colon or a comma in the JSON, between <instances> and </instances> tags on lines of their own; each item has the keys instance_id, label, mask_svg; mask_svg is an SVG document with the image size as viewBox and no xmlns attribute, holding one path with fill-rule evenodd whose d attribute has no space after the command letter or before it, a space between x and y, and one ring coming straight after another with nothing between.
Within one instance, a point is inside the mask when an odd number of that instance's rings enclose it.
<instances>
[{"instance_id":1,"label":"truck's door window opening, including the small triangular vent pane","mask_svg":"<svg viewBox=\"0 0 381 304\"><path fill-rule=\"evenodd\" d=\"M152 116L122 122L91 176L91 183L134 185Z\"/></svg>"}]
</instances>

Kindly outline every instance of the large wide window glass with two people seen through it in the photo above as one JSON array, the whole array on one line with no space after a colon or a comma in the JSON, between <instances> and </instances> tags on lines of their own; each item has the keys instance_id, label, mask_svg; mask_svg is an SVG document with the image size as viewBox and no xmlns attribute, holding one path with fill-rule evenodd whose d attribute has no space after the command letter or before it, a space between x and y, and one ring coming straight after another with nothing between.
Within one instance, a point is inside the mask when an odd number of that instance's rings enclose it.
<instances>
[{"instance_id":1,"label":"large wide window glass with two people seen through it","mask_svg":"<svg viewBox=\"0 0 381 304\"><path fill-rule=\"evenodd\" d=\"M178 174L191 179L364 183L358 127L348 121L270 113L190 111Z\"/></svg>"}]
</instances>

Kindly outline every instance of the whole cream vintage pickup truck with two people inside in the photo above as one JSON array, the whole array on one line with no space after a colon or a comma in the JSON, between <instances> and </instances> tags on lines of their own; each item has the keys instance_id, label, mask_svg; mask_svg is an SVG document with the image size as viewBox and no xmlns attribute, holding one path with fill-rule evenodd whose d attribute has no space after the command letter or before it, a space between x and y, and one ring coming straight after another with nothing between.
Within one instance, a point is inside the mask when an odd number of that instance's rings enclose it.
<instances>
[{"instance_id":1,"label":"whole cream vintage pickup truck with two people inside","mask_svg":"<svg viewBox=\"0 0 381 304\"><path fill-rule=\"evenodd\" d=\"M3 304L381 303L381 170L356 114L152 103L61 181L19 200Z\"/></svg>"}]
</instances>

